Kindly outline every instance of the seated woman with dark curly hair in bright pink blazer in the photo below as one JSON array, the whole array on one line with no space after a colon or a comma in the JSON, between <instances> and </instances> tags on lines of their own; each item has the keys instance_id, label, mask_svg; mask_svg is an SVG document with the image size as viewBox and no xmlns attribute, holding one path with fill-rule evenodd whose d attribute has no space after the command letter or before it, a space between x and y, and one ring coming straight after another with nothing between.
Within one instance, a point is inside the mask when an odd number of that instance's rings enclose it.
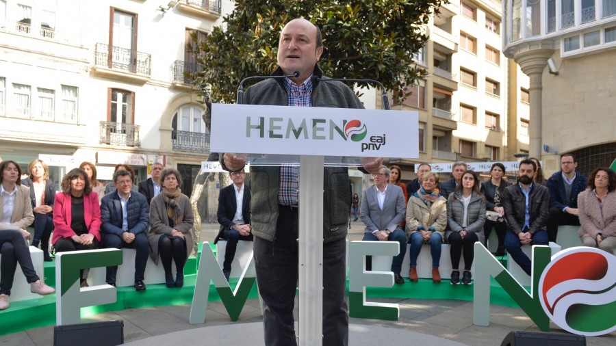
<instances>
[{"instance_id":1,"label":"seated woman with dark curly hair in bright pink blazer","mask_svg":"<svg viewBox=\"0 0 616 346\"><path fill-rule=\"evenodd\" d=\"M55 252L94 250L101 241L101 206L84 170L74 168L62 178L62 192L53 204ZM88 270L81 271L81 287L87 287Z\"/></svg>"}]
</instances>

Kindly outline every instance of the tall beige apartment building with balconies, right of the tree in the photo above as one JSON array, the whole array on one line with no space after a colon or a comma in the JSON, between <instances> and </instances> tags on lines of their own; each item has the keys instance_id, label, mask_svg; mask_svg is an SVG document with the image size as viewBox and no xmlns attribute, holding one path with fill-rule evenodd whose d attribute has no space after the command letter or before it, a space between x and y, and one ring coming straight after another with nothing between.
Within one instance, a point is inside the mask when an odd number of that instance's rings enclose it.
<instances>
[{"instance_id":1,"label":"tall beige apartment building with balconies, right of the tree","mask_svg":"<svg viewBox=\"0 0 616 346\"><path fill-rule=\"evenodd\" d=\"M416 59L428 77L392 107L420 114L420 157L389 159L405 179L418 162L515 161L528 152L528 77L502 54L502 3L450 1L439 11Z\"/></svg>"}]
</instances>

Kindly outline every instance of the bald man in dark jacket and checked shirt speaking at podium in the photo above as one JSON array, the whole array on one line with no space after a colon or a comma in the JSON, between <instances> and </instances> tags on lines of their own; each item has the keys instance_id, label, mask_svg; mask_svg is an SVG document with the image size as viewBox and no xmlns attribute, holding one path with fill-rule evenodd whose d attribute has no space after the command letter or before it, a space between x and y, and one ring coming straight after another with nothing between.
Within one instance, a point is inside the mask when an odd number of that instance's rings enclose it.
<instances>
[{"instance_id":1,"label":"bald man in dark jacket and checked shirt speaking at podium","mask_svg":"<svg viewBox=\"0 0 616 346\"><path fill-rule=\"evenodd\" d=\"M272 78L248 88L242 103L363 108L348 86L323 77L317 64L322 53L320 29L305 19L290 21L280 34L279 67ZM377 173L383 159L365 161L370 162L364 169ZM225 153L220 163L234 171L241 170L246 161ZM298 280L298 174L298 165L251 168L253 249L268 346L296 345L293 308ZM323 194L323 345L348 345L348 168L324 168Z\"/></svg>"}]
</instances>

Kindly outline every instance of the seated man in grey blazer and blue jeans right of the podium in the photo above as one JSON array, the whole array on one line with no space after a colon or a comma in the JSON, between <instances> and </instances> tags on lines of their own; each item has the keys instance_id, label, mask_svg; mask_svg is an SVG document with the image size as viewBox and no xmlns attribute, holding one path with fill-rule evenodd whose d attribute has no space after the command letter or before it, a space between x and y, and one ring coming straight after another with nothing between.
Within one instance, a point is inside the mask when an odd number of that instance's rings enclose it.
<instances>
[{"instance_id":1,"label":"seated man in grey blazer and blue jeans right of the podium","mask_svg":"<svg viewBox=\"0 0 616 346\"><path fill-rule=\"evenodd\" d=\"M372 174L374 185L363 191L361 196L361 221L365 224L363 239L371 241L398 241L400 253L392 260L392 271L396 284L405 283L400 276L402 261L407 254L407 235L400 228L405 219L405 195L402 188L387 183L389 168L383 166ZM372 258L366 258L366 269L372 269Z\"/></svg>"}]
</instances>

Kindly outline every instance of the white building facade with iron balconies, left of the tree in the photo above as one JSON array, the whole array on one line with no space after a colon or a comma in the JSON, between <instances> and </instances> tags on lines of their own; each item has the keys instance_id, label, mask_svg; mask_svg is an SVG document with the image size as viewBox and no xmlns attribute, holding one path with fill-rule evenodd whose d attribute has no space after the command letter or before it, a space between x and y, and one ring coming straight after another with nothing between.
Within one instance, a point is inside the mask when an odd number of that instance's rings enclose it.
<instances>
[{"instance_id":1,"label":"white building facade with iron balconies, left of the tree","mask_svg":"<svg viewBox=\"0 0 616 346\"><path fill-rule=\"evenodd\" d=\"M0 158L34 158L56 182L81 161L110 180L178 168L192 187L209 155L201 96L184 72L230 1L0 0Z\"/></svg>"}]
</instances>

